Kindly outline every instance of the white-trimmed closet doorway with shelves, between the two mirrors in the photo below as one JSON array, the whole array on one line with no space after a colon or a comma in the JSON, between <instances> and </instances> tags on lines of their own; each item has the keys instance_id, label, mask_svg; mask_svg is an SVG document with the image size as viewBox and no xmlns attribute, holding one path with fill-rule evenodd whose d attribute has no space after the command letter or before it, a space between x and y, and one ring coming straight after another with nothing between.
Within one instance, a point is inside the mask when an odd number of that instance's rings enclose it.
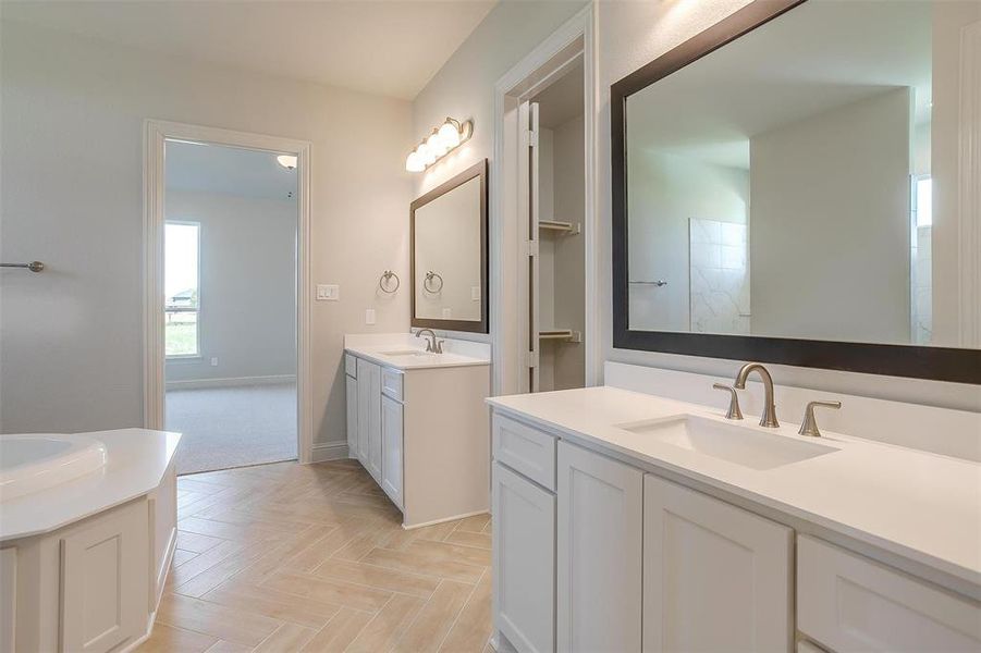
<instances>
[{"instance_id":1,"label":"white-trimmed closet doorway with shelves, between the two mirrors","mask_svg":"<svg viewBox=\"0 0 981 653\"><path fill-rule=\"evenodd\" d=\"M593 8L584 8L494 85L498 395L601 378L593 19Z\"/></svg>"}]
</instances>

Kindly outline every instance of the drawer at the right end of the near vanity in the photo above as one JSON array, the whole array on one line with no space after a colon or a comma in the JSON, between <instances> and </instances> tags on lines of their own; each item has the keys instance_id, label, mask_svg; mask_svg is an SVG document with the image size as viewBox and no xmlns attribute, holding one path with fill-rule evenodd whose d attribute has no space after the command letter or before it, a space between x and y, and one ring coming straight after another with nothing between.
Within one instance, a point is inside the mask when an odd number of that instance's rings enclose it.
<instances>
[{"instance_id":1,"label":"drawer at the right end of the near vanity","mask_svg":"<svg viewBox=\"0 0 981 653\"><path fill-rule=\"evenodd\" d=\"M981 606L879 563L801 535L797 627L847 651L979 651Z\"/></svg>"}]
</instances>

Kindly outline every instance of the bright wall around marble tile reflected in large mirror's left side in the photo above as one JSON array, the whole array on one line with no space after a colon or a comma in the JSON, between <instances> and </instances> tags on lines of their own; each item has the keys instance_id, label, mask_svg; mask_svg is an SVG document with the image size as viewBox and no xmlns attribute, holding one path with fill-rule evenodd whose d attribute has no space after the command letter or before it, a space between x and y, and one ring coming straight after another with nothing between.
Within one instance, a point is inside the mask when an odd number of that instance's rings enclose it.
<instances>
[{"instance_id":1,"label":"bright wall around marble tile reflected in large mirror's left side","mask_svg":"<svg viewBox=\"0 0 981 653\"><path fill-rule=\"evenodd\" d=\"M738 168L649 150L631 151L628 161L630 280L667 282L630 286L630 326L689 331L688 221L745 224L749 175Z\"/></svg>"}]
</instances>

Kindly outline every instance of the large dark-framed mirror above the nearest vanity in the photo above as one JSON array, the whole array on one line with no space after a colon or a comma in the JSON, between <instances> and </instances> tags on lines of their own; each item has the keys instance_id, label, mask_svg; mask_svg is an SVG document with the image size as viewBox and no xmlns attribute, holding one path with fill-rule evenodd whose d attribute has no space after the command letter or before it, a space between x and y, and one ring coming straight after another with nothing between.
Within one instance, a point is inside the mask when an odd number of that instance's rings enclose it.
<instances>
[{"instance_id":1,"label":"large dark-framed mirror above the nearest vanity","mask_svg":"<svg viewBox=\"0 0 981 653\"><path fill-rule=\"evenodd\" d=\"M979 26L759 0L615 84L615 346L981 382Z\"/></svg>"}]
</instances>

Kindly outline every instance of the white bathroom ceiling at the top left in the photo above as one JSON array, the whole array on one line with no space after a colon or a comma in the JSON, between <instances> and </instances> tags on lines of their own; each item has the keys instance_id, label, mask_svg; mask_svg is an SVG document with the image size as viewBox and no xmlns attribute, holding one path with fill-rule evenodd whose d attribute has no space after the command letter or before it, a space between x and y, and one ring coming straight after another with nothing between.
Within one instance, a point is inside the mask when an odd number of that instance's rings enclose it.
<instances>
[{"instance_id":1,"label":"white bathroom ceiling at the top left","mask_svg":"<svg viewBox=\"0 0 981 653\"><path fill-rule=\"evenodd\" d=\"M495 3L496 0L3 0L2 7L3 20L305 82L413 99Z\"/></svg>"}]
</instances>

